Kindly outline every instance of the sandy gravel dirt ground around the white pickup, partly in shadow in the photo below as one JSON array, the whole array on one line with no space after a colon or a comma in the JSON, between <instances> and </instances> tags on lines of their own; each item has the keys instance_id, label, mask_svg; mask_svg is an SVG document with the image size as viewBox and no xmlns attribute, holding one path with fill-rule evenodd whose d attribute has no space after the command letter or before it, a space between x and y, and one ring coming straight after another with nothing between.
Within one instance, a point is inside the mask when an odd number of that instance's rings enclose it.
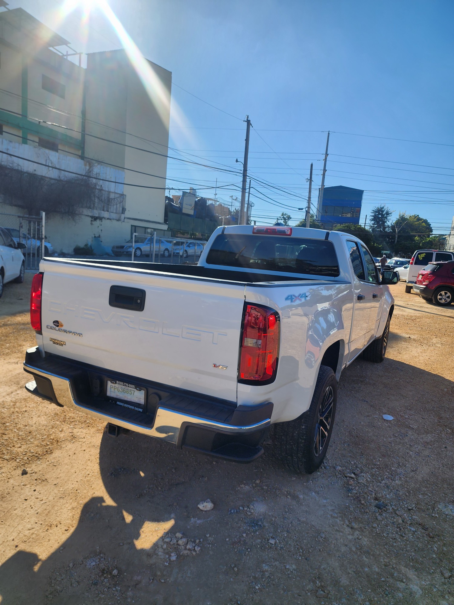
<instances>
[{"instance_id":1,"label":"sandy gravel dirt ground around the white pickup, partly in shadow","mask_svg":"<svg viewBox=\"0 0 454 605\"><path fill-rule=\"evenodd\" d=\"M454 605L454 306L392 287L387 359L344 371L326 462L294 476L27 394L30 281L0 301L1 605Z\"/></svg>"}]
</instances>

